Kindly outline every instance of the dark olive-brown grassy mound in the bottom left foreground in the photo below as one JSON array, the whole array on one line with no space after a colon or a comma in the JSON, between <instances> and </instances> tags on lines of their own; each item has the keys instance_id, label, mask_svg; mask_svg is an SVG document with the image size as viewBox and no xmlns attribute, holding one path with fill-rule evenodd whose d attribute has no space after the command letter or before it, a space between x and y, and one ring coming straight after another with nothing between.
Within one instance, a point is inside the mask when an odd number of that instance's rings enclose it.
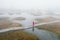
<instances>
[{"instance_id":1,"label":"dark olive-brown grassy mound in the bottom left foreground","mask_svg":"<svg viewBox=\"0 0 60 40\"><path fill-rule=\"evenodd\" d=\"M24 32L23 30L15 30L0 33L0 40L39 40L35 35Z\"/></svg>"}]
</instances>

